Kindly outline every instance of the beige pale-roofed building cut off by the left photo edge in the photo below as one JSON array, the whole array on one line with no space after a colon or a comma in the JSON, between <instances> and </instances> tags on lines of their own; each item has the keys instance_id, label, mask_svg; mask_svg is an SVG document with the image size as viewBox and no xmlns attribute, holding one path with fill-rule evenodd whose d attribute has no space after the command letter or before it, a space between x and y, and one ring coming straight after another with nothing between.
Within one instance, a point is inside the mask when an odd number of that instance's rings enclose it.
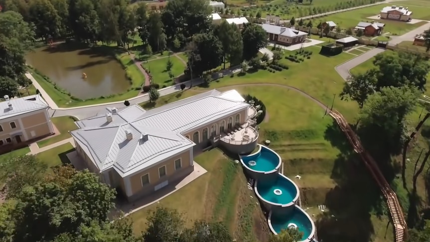
<instances>
[{"instance_id":1,"label":"beige pale-roofed building cut off by the left photo edge","mask_svg":"<svg viewBox=\"0 0 430 242\"><path fill-rule=\"evenodd\" d=\"M0 102L1 153L54 133L49 105L40 95L13 99L5 95L3 99Z\"/></svg>"}]
</instances>

